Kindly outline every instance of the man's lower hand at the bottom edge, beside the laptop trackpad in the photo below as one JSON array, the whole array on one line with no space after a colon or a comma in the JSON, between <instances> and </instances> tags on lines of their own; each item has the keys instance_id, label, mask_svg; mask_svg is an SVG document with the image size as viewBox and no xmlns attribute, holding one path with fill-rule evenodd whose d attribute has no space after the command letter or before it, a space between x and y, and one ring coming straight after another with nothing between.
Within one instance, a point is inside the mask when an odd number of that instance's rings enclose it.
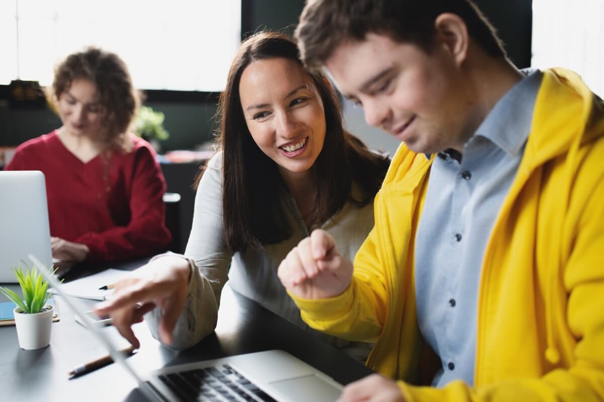
<instances>
[{"instance_id":1,"label":"man's lower hand at the bottom edge, beside the laptop trackpad","mask_svg":"<svg viewBox=\"0 0 604 402\"><path fill-rule=\"evenodd\" d=\"M371 374L344 387L338 402L405 402L393 380Z\"/></svg>"}]
</instances>

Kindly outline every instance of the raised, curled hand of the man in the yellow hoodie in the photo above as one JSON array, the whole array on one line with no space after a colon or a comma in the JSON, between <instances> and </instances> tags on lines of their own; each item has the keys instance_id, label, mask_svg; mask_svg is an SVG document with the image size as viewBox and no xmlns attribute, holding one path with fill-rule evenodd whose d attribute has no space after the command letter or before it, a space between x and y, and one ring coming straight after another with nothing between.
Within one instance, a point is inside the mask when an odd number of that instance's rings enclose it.
<instances>
[{"instance_id":1,"label":"raised, curled hand of the man in the yellow hoodie","mask_svg":"<svg viewBox=\"0 0 604 402\"><path fill-rule=\"evenodd\" d=\"M277 275L283 286L297 297L334 297L349 286L352 262L339 255L329 233L317 229L289 252Z\"/></svg>"}]
</instances>

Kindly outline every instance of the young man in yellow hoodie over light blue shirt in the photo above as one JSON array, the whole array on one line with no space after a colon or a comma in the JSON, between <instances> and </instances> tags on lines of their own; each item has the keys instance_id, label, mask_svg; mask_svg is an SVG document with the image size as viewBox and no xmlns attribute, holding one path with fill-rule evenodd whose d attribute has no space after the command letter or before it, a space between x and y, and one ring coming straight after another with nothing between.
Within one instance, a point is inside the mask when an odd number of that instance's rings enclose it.
<instances>
[{"instance_id":1,"label":"young man in yellow hoodie over light blue shirt","mask_svg":"<svg viewBox=\"0 0 604 402\"><path fill-rule=\"evenodd\" d=\"M602 400L602 99L516 69L467 0L309 0L296 34L403 141L354 263L316 230L278 271L312 327L376 342L341 399Z\"/></svg>"}]
</instances>

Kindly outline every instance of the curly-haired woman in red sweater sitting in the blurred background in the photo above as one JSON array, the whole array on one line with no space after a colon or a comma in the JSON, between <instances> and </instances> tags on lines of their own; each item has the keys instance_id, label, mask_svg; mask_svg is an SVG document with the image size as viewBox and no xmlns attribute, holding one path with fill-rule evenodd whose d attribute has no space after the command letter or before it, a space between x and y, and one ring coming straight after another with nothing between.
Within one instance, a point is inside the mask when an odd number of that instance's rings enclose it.
<instances>
[{"instance_id":1,"label":"curly-haired woman in red sweater sitting in the blurred background","mask_svg":"<svg viewBox=\"0 0 604 402\"><path fill-rule=\"evenodd\" d=\"M148 256L170 241L155 152L128 131L140 105L126 64L96 48L55 69L62 127L22 143L5 170L46 177L53 258L63 266Z\"/></svg>"}]
</instances>

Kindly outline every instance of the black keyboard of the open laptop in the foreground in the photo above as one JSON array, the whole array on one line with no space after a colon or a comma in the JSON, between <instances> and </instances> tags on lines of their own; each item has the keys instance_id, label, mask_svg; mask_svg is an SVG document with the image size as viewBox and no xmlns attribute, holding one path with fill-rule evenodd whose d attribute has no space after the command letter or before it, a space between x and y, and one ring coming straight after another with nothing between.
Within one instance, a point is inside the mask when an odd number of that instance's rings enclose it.
<instances>
[{"instance_id":1,"label":"black keyboard of the open laptop in the foreground","mask_svg":"<svg viewBox=\"0 0 604 402\"><path fill-rule=\"evenodd\" d=\"M159 375L182 401L276 402L229 365Z\"/></svg>"}]
</instances>

